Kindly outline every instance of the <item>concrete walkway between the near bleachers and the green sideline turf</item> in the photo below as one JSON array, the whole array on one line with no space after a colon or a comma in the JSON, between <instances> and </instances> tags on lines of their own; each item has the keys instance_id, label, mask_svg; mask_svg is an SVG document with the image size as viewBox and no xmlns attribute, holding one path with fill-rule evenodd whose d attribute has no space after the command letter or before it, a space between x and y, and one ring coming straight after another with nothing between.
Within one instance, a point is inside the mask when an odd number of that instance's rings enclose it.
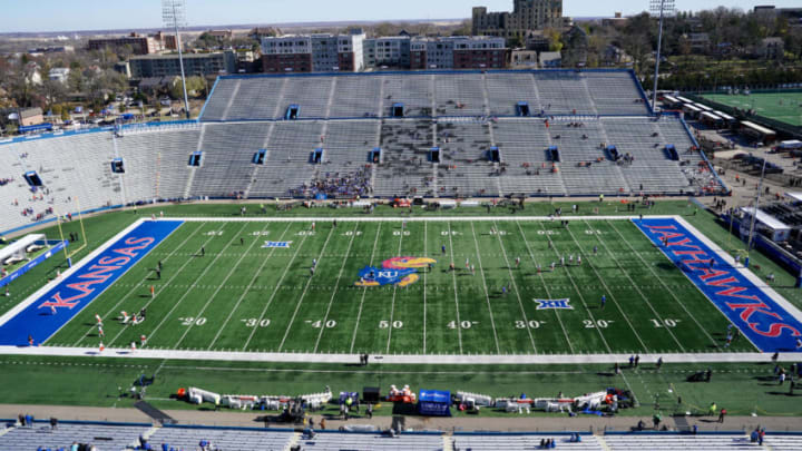
<instances>
[{"instance_id":1,"label":"concrete walkway between the near bleachers and the green sideline turf","mask_svg":"<svg viewBox=\"0 0 802 451\"><path fill-rule=\"evenodd\" d=\"M59 420L80 421L113 421L130 423L149 423L150 419L136 409L110 409L110 408L85 408L63 405L22 405L0 404L0 418L16 419L20 413L30 413L39 420L56 416ZM193 410L166 410L169 416L178 421L178 424L203 424L219 427L248 427L264 428L261 421L262 412L231 412L231 411L193 411ZM266 412L268 415L275 412ZM315 424L320 423L320 415L313 415ZM628 431L635 427L638 420L651 425L651 418L636 416L575 416L567 418L564 414L556 414L554 418L544 416L518 416L510 414L509 418L421 418L407 416L405 427L415 431L440 430L443 432L453 431L529 431L529 432L558 432L558 431L591 431L603 433L605 430ZM678 420L678 421L676 421ZM663 423L669 429L696 424L700 431L750 431L757 425L769 431L786 432L802 430L802 423L796 416L727 416L724 424L720 424L714 418L671 418L664 416ZM336 430L341 425L373 424L380 429L388 429L392 423L392 416L374 416L371 420L365 418L350 421L326 419L326 429ZM287 428L283 423L268 423L272 428Z\"/></svg>"}]
</instances>

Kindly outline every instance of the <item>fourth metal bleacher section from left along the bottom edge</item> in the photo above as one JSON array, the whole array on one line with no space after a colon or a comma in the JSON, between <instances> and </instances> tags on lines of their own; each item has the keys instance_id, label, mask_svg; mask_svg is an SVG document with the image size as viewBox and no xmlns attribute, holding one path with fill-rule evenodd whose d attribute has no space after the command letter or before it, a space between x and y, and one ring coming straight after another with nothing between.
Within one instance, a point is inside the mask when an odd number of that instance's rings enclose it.
<instances>
[{"instance_id":1,"label":"fourth metal bleacher section from left along the bottom edge","mask_svg":"<svg viewBox=\"0 0 802 451\"><path fill-rule=\"evenodd\" d=\"M454 450L459 451L495 451L495 450L537 450L540 441L551 439L558 450L604 450L596 437L581 435L581 442L571 442L568 434L481 434L454 433Z\"/></svg>"}]
</instances>

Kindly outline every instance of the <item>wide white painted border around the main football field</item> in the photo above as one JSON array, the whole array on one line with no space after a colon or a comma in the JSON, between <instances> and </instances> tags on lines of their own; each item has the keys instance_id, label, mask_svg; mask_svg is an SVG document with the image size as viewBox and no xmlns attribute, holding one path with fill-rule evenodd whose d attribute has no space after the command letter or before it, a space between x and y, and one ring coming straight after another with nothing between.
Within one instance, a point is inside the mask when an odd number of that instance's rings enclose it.
<instances>
[{"instance_id":1,"label":"wide white painted border around the main football field","mask_svg":"<svg viewBox=\"0 0 802 451\"><path fill-rule=\"evenodd\" d=\"M639 216L571 216L560 217L560 220L632 220L637 219ZM713 243L698 229L687 223L682 216L678 215L654 215L647 216L646 218L655 219L674 219L685 227L688 232L693 233L701 242L711 248L720 258L726 261L732 265L735 271L744 275L750 282L755 284L756 287L762 290L769 297L783 307L790 315L798 321L802 322L802 312L785 300L777 292L766 285L760 277L754 275L751 271L743 266L735 266L735 259L730 254ZM321 222L333 220L335 217L293 217L293 218L245 218L245 217L222 217L222 218L208 218L208 217L165 217L157 218L156 220L183 220L183 222L276 222L276 223L302 223L302 222ZM438 216L438 217L417 217L417 218L404 218L404 217L336 217L338 223L346 222L365 222L365 223L380 223L380 222L424 222L424 223L448 223L448 222L519 222L519 220L556 220L557 217L551 216ZM100 253L108 249L114 243L119 241L127 233L139 226L145 220L140 218L130 226L126 227L123 232L115 235L108 242L104 243L100 247L91 252L78 264L75 264L70 269L62 274L62 277L68 276L75 271L80 269L91 258L96 257ZM46 286L30 295L26 301L20 303L17 307L7 312L0 317L0 325L13 317L19 311L26 308L31 303L36 302L47 291L51 290L60 283L60 280L55 280L48 283ZM206 361L231 361L231 362L288 362L288 363L354 363L358 362L362 354L353 353L282 353L282 352L244 352L234 350L221 350L221 351L203 351L203 350L160 350L160 349L139 349L131 351L127 347L107 347L100 352L95 347L69 347L69 346L0 346L0 355L29 355L29 356L102 356L102 357L119 357L119 359L167 359L167 360L206 360ZM736 362L767 362L767 353L762 352L710 352L710 353L667 353L667 354L639 354L644 362L656 362L657 359L663 359L665 363L736 363ZM375 360L380 356L381 360ZM796 362L799 360L799 353L786 352L781 353L779 361L782 362ZM371 361L376 363L389 363L389 364L583 364L583 363L612 363L612 362L625 362L629 359L629 354L380 354L371 355Z\"/></svg>"}]
</instances>

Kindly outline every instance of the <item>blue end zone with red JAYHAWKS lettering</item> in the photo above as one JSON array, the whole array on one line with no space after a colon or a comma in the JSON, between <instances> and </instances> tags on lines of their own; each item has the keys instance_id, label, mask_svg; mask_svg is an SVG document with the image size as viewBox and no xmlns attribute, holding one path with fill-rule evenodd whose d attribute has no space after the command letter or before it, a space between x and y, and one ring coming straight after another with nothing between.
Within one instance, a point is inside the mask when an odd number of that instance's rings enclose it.
<instances>
[{"instance_id":1,"label":"blue end zone with red JAYHAWKS lettering","mask_svg":"<svg viewBox=\"0 0 802 451\"><path fill-rule=\"evenodd\" d=\"M802 323L679 223L633 222L761 351L800 351L796 337L802 336Z\"/></svg>"}]
</instances>

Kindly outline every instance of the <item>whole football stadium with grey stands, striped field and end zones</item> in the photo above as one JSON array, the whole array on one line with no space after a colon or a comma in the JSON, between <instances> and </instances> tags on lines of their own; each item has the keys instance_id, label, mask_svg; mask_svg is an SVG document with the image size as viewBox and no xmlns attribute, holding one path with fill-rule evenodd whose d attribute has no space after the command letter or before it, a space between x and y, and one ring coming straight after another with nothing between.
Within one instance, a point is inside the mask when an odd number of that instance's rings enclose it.
<instances>
[{"instance_id":1,"label":"whole football stadium with grey stands, striped field and end zones","mask_svg":"<svg viewBox=\"0 0 802 451\"><path fill-rule=\"evenodd\" d=\"M0 178L0 449L802 447L796 274L630 70L221 76Z\"/></svg>"}]
</instances>

